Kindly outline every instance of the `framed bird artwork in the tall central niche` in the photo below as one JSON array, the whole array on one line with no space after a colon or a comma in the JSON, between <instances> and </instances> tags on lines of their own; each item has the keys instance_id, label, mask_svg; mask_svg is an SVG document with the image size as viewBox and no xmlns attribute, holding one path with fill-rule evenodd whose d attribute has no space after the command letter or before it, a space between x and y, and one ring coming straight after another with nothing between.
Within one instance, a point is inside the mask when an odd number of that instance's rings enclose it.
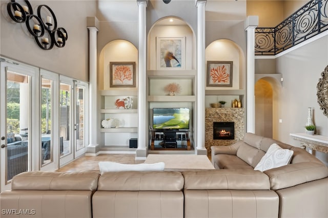
<instances>
[{"instance_id":1,"label":"framed bird artwork in the tall central niche","mask_svg":"<svg viewBox=\"0 0 328 218\"><path fill-rule=\"evenodd\" d=\"M156 39L157 69L185 69L185 37Z\"/></svg>"}]
</instances>

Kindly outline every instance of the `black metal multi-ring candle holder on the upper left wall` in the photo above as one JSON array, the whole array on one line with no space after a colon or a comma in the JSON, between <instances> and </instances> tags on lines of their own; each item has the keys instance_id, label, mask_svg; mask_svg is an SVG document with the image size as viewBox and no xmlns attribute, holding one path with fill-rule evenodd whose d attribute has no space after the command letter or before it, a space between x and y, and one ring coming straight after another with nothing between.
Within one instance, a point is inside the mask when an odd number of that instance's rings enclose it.
<instances>
[{"instance_id":1,"label":"black metal multi-ring candle holder on the upper left wall","mask_svg":"<svg viewBox=\"0 0 328 218\"><path fill-rule=\"evenodd\" d=\"M64 28L57 28L57 19L51 8L47 5L39 5L36 16L29 1L24 2L26 3L24 6L15 1L8 3L7 11L11 19L16 23L25 23L40 48L50 50L54 45L63 48L68 34Z\"/></svg>"}]
</instances>

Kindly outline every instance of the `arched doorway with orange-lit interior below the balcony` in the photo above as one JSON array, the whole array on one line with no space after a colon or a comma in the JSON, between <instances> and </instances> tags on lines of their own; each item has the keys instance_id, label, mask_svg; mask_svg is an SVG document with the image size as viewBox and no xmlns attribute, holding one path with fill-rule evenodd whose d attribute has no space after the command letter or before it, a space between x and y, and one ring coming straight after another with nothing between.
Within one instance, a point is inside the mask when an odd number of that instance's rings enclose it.
<instances>
[{"instance_id":1,"label":"arched doorway with orange-lit interior below the balcony","mask_svg":"<svg viewBox=\"0 0 328 218\"><path fill-rule=\"evenodd\" d=\"M278 135L281 74L255 74L255 134Z\"/></svg>"}]
</instances>

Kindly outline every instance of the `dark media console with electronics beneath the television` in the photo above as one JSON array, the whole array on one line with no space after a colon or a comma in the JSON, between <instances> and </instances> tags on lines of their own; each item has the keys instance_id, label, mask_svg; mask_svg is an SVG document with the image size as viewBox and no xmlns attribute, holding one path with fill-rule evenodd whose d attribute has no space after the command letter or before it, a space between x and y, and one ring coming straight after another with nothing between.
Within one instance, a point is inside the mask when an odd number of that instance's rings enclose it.
<instances>
[{"instance_id":1,"label":"dark media console with electronics beneath the television","mask_svg":"<svg viewBox=\"0 0 328 218\"><path fill-rule=\"evenodd\" d=\"M191 150L188 130L151 130L151 150Z\"/></svg>"}]
</instances>

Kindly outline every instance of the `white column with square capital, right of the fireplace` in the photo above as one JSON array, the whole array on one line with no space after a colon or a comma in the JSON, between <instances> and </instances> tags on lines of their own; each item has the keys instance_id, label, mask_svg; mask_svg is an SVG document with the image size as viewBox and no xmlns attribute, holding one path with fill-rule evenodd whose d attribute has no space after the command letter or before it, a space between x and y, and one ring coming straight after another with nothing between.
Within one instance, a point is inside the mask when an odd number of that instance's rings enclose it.
<instances>
[{"instance_id":1,"label":"white column with square capital, right of the fireplace","mask_svg":"<svg viewBox=\"0 0 328 218\"><path fill-rule=\"evenodd\" d=\"M258 16L249 16L245 21L247 31L247 129L255 133L255 28L258 26Z\"/></svg>"}]
</instances>

